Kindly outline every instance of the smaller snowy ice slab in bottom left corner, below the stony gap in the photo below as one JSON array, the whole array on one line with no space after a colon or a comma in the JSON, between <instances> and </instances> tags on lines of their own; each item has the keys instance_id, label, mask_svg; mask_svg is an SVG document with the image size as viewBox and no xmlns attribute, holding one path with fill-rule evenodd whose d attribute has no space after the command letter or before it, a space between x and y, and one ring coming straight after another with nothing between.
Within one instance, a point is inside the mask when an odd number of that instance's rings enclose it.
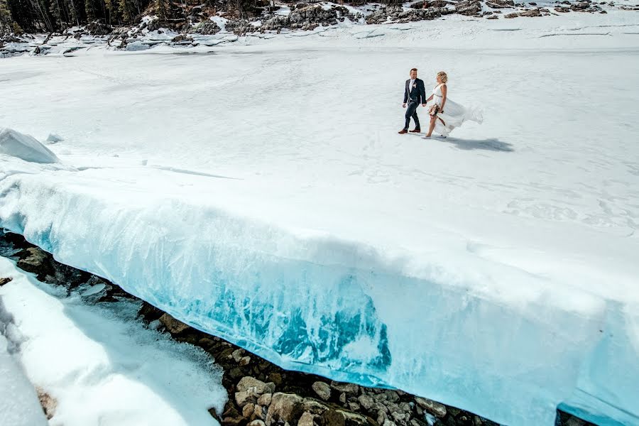
<instances>
[{"instance_id":1,"label":"smaller snowy ice slab in bottom left corner, below the stony gap","mask_svg":"<svg viewBox=\"0 0 639 426\"><path fill-rule=\"evenodd\" d=\"M13 278L0 288L0 344L13 346L0 346L3 426L218 425L207 409L224 408L221 371L195 346L144 329L138 305L87 304L90 288L67 297L6 258L0 276ZM29 381L50 396L48 423Z\"/></svg>"}]
</instances>

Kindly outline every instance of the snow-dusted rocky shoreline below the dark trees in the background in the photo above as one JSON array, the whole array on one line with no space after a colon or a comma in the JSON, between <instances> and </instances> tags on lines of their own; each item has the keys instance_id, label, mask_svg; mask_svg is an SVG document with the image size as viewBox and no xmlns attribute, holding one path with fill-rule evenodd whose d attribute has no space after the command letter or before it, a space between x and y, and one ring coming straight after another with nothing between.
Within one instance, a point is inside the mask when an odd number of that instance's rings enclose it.
<instances>
[{"instance_id":1,"label":"snow-dusted rocky shoreline below the dark trees in the background","mask_svg":"<svg viewBox=\"0 0 639 426\"><path fill-rule=\"evenodd\" d=\"M207 6L187 6L185 18L160 19L147 11L136 26L111 27L94 22L50 33L45 40L33 35L0 36L0 58L30 53L46 55L50 52L70 53L92 45L107 45L115 49L143 50L153 45L210 45L234 41L232 36L265 35L281 31L312 31L335 26L348 20L356 25L406 23L459 14L476 18L534 18L564 13L607 13L606 9L639 10L639 4L616 5L614 1L556 0L553 7L537 6L535 1L515 3L514 0L420 0L411 4L381 6L371 4L365 9L337 4L290 3L290 13L282 13L281 6L260 9L261 15L241 18L235 11L217 11ZM215 18L215 20L212 20ZM224 24L219 24L224 22ZM211 39L214 37L214 39ZM77 45L58 51L58 45L77 40Z\"/></svg>"}]
</instances>

